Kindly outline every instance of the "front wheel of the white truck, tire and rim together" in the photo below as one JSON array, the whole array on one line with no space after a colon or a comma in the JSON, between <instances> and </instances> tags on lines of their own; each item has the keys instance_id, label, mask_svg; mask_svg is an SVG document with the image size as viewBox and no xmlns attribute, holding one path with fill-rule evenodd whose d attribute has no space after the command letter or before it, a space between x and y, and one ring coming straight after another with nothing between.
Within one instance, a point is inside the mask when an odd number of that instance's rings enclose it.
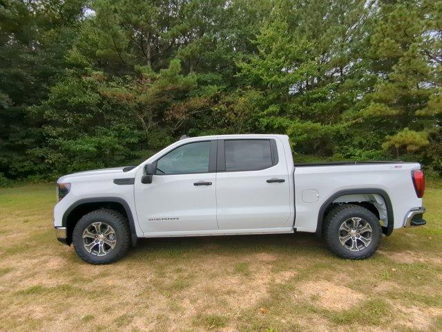
<instances>
[{"instance_id":1,"label":"front wheel of the white truck, tire and rim together","mask_svg":"<svg viewBox=\"0 0 442 332\"><path fill-rule=\"evenodd\" d=\"M127 219L108 209L85 214L73 232L75 252L91 264L108 264L119 259L127 252L130 239Z\"/></svg>"}]
</instances>

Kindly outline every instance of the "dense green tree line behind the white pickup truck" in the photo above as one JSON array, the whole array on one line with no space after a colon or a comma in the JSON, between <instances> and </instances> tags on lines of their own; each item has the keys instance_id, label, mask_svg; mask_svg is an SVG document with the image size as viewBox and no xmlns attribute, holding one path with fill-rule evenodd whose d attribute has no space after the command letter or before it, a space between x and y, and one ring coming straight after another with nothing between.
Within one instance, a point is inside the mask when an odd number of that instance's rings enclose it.
<instances>
[{"instance_id":1,"label":"dense green tree line behind the white pickup truck","mask_svg":"<svg viewBox=\"0 0 442 332\"><path fill-rule=\"evenodd\" d=\"M441 64L436 0L0 0L0 182L216 133L442 174Z\"/></svg>"}]
</instances>

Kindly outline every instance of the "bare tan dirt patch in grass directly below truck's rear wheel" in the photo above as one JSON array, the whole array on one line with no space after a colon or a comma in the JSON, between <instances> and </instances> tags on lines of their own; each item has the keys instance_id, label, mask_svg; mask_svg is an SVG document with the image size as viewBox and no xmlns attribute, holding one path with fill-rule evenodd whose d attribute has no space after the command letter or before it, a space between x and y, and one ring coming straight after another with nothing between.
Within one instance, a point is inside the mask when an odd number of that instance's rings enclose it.
<instances>
[{"instance_id":1,"label":"bare tan dirt patch in grass directly below truck's rear wheel","mask_svg":"<svg viewBox=\"0 0 442 332\"><path fill-rule=\"evenodd\" d=\"M319 306L333 310L348 309L364 298L361 293L325 280L300 284L300 291L310 299L316 299Z\"/></svg>"}]
</instances>

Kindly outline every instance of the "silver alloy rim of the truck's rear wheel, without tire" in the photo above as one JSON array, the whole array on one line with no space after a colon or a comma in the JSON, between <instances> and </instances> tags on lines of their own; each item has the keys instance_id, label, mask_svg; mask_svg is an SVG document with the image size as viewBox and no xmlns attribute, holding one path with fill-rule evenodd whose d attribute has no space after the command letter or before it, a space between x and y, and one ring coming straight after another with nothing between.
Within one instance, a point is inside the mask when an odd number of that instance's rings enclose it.
<instances>
[{"instance_id":1,"label":"silver alloy rim of the truck's rear wheel, without tire","mask_svg":"<svg viewBox=\"0 0 442 332\"><path fill-rule=\"evenodd\" d=\"M343 221L338 233L340 244L350 251L363 250L372 242L372 226L357 216Z\"/></svg>"}]
</instances>

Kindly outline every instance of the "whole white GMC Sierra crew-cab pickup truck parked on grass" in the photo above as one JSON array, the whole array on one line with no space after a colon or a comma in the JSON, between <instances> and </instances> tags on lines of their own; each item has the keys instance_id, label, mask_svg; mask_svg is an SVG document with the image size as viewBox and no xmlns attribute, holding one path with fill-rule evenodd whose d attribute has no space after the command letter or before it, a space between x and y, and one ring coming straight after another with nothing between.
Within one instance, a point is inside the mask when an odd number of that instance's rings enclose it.
<instances>
[{"instance_id":1,"label":"whole white GMC Sierra crew-cab pickup truck parked on grass","mask_svg":"<svg viewBox=\"0 0 442 332\"><path fill-rule=\"evenodd\" d=\"M62 176L57 188L57 238L92 264L140 237L293 232L363 259L382 234L425 224L419 163L294 164L284 135L184 138L135 167Z\"/></svg>"}]
</instances>

